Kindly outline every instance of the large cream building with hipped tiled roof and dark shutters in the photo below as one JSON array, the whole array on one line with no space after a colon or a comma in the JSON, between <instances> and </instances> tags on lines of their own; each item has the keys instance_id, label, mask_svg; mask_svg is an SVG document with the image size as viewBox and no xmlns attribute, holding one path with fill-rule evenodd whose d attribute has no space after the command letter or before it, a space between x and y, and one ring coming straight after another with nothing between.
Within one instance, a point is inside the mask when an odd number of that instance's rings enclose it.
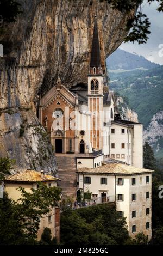
<instances>
[{"instance_id":1,"label":"large cream building with hipped tiled roof and dark shutters","mask_svg":"<svg viewBox=\"0 0 163 256\"><path fill-rule=\"evenodd\" d=\"M78 193L91 193L90 204L115 202L117 214L126 217L129 234L152 236L152 173L122 163L77 171Z\"/></svg>"}]
</instances>

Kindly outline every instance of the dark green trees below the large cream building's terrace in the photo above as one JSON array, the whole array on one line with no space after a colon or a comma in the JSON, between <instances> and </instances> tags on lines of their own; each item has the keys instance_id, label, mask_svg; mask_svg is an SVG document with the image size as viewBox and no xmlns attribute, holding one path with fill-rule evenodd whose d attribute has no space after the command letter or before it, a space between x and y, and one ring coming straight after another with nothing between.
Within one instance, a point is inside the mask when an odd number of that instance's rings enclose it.
<instances>
[{"instance_id":1,"label":"dark green trees below the large cream building's terrace","mask_svg":"<svg viewBox=\"0 0 163 256\"><path fill-rule=\"evenodd\" d=\"M61 243L64 245L125 245L131 243L126 220L116 218L114 204L63 210L60 233Z\"/></svg>"}]
</instances>

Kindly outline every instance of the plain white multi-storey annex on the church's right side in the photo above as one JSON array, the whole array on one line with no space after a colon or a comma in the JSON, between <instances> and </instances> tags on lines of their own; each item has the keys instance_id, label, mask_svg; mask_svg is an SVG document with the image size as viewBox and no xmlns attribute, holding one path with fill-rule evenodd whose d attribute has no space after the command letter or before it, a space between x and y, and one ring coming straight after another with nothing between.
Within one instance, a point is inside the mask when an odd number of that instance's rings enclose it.
<instances>
[{"instance_id":1,"label":"plain white multi-storey annex on the church's right side","mask_svg":"<svg viewBox=\"0 0 163 256\"><path fill-rule=\"evenodd\" d=\"M111 121L110 157L142 167L142 124L115 118Z\"/></svg>"}]
</instances>

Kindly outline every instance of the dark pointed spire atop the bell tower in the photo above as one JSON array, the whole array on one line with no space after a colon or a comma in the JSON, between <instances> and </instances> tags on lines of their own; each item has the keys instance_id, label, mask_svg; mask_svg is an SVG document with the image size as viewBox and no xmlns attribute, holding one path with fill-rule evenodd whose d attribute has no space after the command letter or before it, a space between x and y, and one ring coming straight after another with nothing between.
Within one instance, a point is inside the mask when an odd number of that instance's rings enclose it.
<instances>
[{"instance_id":1,"label":"dark pointed spire atop the bell tower","mask_svg":"<svg viewBox=\"0 0 163 256\"><path fill-rule=\"evenodd\" d=\"M95 15L94 19L94 28L93 28L93 39L92 39L92 48L91 48L91 62L90 68L98 68L101 66L100 62L100 47L98 39L98 28L97 28L97 18Z\"/></svg>"}]
</instances>

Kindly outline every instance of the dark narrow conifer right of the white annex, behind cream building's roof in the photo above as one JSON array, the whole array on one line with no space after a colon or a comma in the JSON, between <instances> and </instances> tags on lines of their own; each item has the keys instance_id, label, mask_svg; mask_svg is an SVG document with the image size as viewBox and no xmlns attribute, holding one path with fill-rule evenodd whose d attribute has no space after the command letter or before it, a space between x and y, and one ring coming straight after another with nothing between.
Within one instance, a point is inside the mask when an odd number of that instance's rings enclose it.
<instances>
[{"instance_id":1,"label":"dark narrow conifer right of the white annex, behind cream building's roof","mask_svg":"<svg viewBox=\"0 0 163 256\"><path fill-rule=\"evenodd\" d=\"M152 147L146 141L143 145L143 168L156 170L156 159Z\"/></svg>"}]
</instances>

